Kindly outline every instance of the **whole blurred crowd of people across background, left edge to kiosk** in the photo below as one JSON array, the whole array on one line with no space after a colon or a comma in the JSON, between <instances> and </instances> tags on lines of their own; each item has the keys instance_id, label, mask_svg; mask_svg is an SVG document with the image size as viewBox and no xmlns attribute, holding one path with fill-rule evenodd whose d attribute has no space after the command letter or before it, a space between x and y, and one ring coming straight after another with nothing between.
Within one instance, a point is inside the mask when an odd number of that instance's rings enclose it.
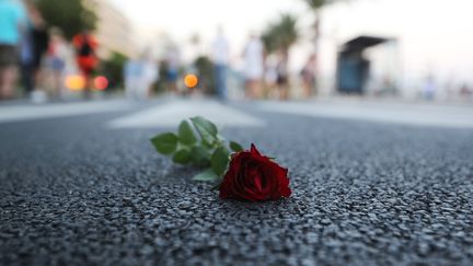
<instances>
[{"instance_id":1,"label":"whole blurred crowd of people across background, left edge to kiosk","mask_svg":"<svg viewBox=\"0 0 473 266\"><path fill-rule=\"evenodd\" d=\"M23 96L42 103L61 99L67 84L66 70L70 62L80 72L84 99L91 97L93 76L100 60L99 43L88 31L68 39L58 27L48 25L31 0L0 0L0 100ZM228 99L228 76L232 67L229 41L221 27L207 55L212 63L211 80L215 94ZM195 72L198 66L184 66L178 46L170 46L161 61L151 49L139 57L129 58L123 66L126 95L130 99L150 97L155 83L164 81L171 93L182 90L180 78L184 72ZM261 38L253 34L241 57L244 94L247 99L289 97L288 53L278 50L267 55ZM315 57L312 56L300 72L304 93L309 96L315 82ZM122 78L122 77L120 77ZM203 82L209 79L201 77ZM19 85L20 84L20 85ZM209 86L209 83L206 84ZM15 90L22 88L22 90ZM197 91L197 90L194 90Z\"/></svg>"}]
</instances>

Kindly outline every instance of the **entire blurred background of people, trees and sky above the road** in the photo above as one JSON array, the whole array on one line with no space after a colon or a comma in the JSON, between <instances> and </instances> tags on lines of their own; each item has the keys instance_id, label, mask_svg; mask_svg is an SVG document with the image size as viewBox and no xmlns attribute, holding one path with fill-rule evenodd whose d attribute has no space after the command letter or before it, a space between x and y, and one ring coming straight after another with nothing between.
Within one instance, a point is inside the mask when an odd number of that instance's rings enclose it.
<instances>
[{"instance_id":1,"label":"entire blurred background of people, trees and sky above the road","mask_svg":"<svg viewBox=\"0 0 473 266\"><path fill-rule=\"evenodd\" d=\"M0 99L471 103L471 10L470 0L0 0Z\"/></svg>"}]
</instances>

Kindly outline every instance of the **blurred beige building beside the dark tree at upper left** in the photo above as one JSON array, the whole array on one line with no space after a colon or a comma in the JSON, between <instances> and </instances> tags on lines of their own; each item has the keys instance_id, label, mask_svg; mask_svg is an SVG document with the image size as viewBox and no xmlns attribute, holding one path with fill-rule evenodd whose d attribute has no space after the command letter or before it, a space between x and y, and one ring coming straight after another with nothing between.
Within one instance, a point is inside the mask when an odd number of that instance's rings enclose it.
<instances>
[{"instance_id":1,"label":"blurred beige building beside the dark tree at upper left","mask_svg":"<svg viewBox=\"0 0 473 266\"><path fill-rule=\"evenodd\" d=\"M95 11L99 19L95 30L99 56L108 58L113 51L135 56L134 31L128 18L108 0L84 0L84 4Z\"/></svg>"}]
</instances>

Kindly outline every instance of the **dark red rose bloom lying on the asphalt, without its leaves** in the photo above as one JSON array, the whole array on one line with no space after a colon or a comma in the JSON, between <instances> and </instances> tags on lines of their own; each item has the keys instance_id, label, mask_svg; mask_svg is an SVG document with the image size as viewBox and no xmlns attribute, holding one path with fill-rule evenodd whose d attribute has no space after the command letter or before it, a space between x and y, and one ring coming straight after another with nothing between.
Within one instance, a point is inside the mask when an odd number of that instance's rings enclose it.
<instances>
[{"instance_id":1,"label":"dark red rose bloom lying on the asphalt, without its leaves","mask_svg":"<svg viewBox=\"0 0 473 266\"><path fill-rule=\"evenodd\" d=\"M289 197L288 170L262 155L254 144L232 155L220 185L221 198L263 201Z\"/></svg>"}]
</instances>

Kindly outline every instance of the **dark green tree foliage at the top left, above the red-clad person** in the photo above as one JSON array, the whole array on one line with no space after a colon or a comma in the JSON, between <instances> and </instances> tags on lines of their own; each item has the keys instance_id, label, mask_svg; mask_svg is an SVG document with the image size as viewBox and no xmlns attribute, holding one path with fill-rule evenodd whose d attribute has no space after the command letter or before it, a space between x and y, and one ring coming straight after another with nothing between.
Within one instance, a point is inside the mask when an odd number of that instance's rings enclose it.
<instances>
[{"instance_id":1,"label":"dark green tree foliage at the top left, above the red-clad person","mask_svg":"<svg viewBox=\"0 0 473 266\"><path fill-rule=\"evenodd\" d=\"M95 28L96 14L82 0L37 0L36 5L48 25L60 28L69 39Z\"/></svg>"}]
</instances>

